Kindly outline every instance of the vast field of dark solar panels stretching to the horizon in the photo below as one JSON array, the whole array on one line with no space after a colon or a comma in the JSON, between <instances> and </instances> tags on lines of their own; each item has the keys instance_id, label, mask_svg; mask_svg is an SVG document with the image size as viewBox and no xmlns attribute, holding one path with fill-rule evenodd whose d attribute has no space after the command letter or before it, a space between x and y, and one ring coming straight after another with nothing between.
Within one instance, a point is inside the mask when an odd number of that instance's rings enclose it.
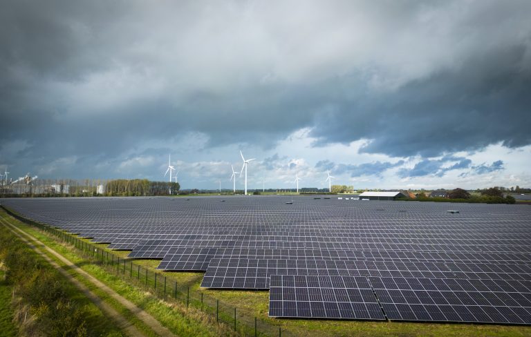
<instances>
[{"instance_id":1,"label":"vast field of dark solar panels stretching to the horizon","mask_svg":"<svg viewBox=\"0 0 531 337\"><path fill-rule=\"evenodd\" d=\"M222 202L223 200L223 202ZM531 324L531 207L253 196L8 199L27 218L270 289L270 316ZM448 213L458 209L459 213Z\"/></svg>"}]
</instances>

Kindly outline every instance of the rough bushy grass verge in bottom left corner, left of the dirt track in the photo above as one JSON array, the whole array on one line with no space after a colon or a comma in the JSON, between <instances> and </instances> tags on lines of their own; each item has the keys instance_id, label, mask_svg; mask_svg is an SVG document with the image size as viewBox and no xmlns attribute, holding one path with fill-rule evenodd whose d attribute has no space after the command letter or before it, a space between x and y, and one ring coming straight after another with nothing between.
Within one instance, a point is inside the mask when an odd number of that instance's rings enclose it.
<instances>
[{"instance_id":1,"label":"rough bushy grass verge in bottom left corner, left of the dirt track","mask_svg":"<svg viewBox=\"0 0 531 337\"><path fill-rule=\"evenodd\" d=\"M1 336L32 336L41 331L50 336L59 331L64 336L122 336L82 291L14 234L2 231L0 241L0 258L6 259L9 273L6 280L0 276Z\"/></svg>"}]
</instances>

